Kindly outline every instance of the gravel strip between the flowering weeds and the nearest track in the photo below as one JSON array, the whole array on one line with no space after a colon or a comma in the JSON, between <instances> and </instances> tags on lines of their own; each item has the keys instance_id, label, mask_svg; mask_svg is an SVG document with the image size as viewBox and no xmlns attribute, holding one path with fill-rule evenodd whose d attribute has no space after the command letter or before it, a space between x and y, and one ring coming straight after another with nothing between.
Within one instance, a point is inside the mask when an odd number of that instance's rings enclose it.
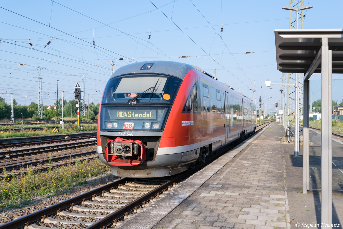
<instances>
[{"instance_id":1,"label":"gravel strip between the flowering weeds and the nearest track","mask_svg":"<svg viewBox=\"0 0 343 229\"><path fill-rule=\"evenodd\" d=\"M27 203L21 208L12 208L7 211L1 211L0 223L9 222L17 217L28 215L32 213L32 211L43 209L47 205L57 204L60 201L69 199L72 196L80 195L83 192L87 192L93 188L97 188L117 179L119 179L117 176L114 176L108 172L95 178L87 179L86 184L75 186L72 190L63 191L59 194L50 193L45 196L36 196L34 197L33 201Z\"/></svg>"}]
</instances>

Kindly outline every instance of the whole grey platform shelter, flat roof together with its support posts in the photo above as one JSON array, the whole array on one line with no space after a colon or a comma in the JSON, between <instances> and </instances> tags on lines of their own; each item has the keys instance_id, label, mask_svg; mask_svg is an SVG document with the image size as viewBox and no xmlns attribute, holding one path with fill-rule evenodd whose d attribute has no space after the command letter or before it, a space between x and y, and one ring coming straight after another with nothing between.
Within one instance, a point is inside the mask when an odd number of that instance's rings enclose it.
<instances>
[{"instance_id":1,"label":"whole grey platform shelter, flat roof together with its support posts","mask_svg":"<svg viewBox=\"0 0 343 229\"><path fill-rule=\"evenodd\" d=\"M309 189L309 78L321 73L321 223L332 229L332 73L343 73L343 29L275 30L277 69L304 73L303 191Z\"/></svg>"}]
</instances>

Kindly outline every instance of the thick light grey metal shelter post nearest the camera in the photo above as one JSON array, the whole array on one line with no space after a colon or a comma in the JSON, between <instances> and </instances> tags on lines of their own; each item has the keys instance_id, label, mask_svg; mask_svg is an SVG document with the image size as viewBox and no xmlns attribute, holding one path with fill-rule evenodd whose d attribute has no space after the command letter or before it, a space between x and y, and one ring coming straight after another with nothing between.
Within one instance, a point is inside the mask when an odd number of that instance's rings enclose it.
<instances>
[{"instance_id":1,"label":"thick light grey metal shelter post nearest the camera","mask_svg":"<svg viewBox=\"0 0 343 229\"><path fill-rule=\"evenodd\" d=\"M332 50L322 38L322 121L321 121L321 223L332 228Z\"/></svg>"}]
</instances>

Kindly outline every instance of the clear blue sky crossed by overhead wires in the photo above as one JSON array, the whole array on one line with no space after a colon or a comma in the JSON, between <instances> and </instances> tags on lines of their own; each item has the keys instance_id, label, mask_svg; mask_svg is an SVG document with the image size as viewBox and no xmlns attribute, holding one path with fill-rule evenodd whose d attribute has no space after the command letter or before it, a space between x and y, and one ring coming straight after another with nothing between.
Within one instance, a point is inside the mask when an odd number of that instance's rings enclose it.
<instances>
[{"instance_id":1,"label":"clear blue sky crossed by overhead wires","mask_svg":"<svg viewBox=\"0 0 343 229\"><path fill-rule=\"evenodd\" d=\"M307 4L313 8L306 11L304 28L343 27L342 0L305 0ZM0 96L7 100L6 94L14 93L13 98L22 105L25 96L27 105L37 103L35 66L39 66L43 68L44 105L56 101L56 80L64 98L73 99L76 82L82 86L81 73L86 73L86 103L88 94L90 102L98 103L111 74L111 60L115 69L131 61L171 60L211 74L216 69L219 81L250 98L255 80L257 103L262 96L271 105L280 100L280 86L267 88L264 81L281 83L274 29L289 28L289 11L282 9L284 5L289 1L2 1ZM320 75L311 79L320 79ZM343 77L334 74L333 79L333 100L340 102ZM314 80L312 85L314 101L320 99L320 82Z\"/></svg>"}]
</instances>

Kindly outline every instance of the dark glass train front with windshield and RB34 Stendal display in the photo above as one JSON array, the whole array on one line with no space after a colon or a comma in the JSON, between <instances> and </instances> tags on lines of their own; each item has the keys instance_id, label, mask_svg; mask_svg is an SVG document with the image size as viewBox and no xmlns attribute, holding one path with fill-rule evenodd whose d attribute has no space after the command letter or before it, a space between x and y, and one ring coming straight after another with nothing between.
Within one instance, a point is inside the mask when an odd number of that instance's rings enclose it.
<instances>
[{"instance_id":1,"label":"dark glass train front with windshield and RB34 Stendal display","mask_svg":"<svg viewBox=\"0 0 343 229\"><path fill-rule=\"evenodd\" d=\"M181 80L161 75L134 75L110 79L100 112L106 131L161 131Z\"/></svg>"}]
</instances>

